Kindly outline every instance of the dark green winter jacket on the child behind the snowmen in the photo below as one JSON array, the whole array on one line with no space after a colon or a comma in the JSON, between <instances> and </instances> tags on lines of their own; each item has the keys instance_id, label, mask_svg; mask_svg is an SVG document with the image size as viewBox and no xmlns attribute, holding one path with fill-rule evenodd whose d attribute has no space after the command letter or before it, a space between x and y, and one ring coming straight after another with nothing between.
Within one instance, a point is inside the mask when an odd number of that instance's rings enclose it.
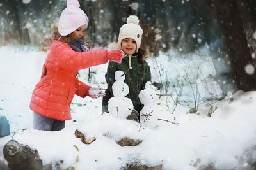
<instances>
[{"instance_id":1,"label":"dark green winter jacket on the child behind the snowmen","mask_svg":"<svg viewBox=\"0 0 256 170\"><path fill-rule=\"evenodd\" d=\"M106 90L106 96L102 99L102 113L108 111L108 101L113 97L112 85L115 80L115 72L123 71L125 73L124 82L129 87L129 94L125 97L131 99L134 109L140 113L143 108L143 104L140 103L139 93L145 89L145 83L151 81L151 72L148 63L144 60L141 64L137 56L131 56L131 66L129 69L129 57L124 57L121 64L110 61L108 64L108 71L105 74L106 82L108 83L108 89Z\"/></svg>"}]
</instances>

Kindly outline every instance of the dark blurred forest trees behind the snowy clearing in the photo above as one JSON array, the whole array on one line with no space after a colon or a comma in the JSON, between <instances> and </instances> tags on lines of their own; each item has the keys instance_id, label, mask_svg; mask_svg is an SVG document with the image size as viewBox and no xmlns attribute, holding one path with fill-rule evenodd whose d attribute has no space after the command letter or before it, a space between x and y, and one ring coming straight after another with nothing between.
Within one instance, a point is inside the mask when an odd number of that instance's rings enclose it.
<instances>
[{"instance_id":1,"label":"dark blurred forest trees behind the snowy clearing","mask_svg":"<svg viewBox=\"0 0 256 170\"><path fill-rule=\"evenodd\" d=\"M152 56L177 49L182 55L207 45L223 95L255 90L256 1L253 0L84 0L89 17L87 44L116 41L127 16L138 15L143 48ZM47 50L66 1L1 0L0 45ZM175 56L170 56L175 57ZM204 55L202 55L204 57Z\"/></svg>"}]
</instances>

